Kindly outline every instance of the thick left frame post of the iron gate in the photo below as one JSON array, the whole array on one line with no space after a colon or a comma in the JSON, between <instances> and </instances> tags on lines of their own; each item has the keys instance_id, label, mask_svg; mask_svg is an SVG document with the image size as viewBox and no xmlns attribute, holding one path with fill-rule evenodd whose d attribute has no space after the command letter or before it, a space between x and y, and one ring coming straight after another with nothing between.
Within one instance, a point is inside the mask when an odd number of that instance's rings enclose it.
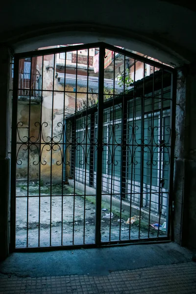
<instances>
[{"instance_id":1,"label":"thick left frame post of the iron gate","mask_svg":"<svg viewBox=\"0 0 196 294\"><path fill-rule=\"evenodd\" d=\"M18 116L19 59L14 58L14 80L12 100L12 140L11 140L11 201L10 201L10 251L16 247L16 154Z\"/></svg>"}]
</instances>

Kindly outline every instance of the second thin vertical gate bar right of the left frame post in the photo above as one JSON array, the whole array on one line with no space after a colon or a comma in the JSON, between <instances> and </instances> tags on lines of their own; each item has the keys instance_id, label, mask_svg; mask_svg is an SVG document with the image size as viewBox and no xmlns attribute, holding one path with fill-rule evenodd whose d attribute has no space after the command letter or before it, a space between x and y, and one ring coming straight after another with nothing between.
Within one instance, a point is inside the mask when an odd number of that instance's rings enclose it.
<instances>
[{"instance_id":1,"label":"second thin vertical gate bar right of the left frame post","mask_svg":"<svg viewBox=\"0 0 196 294\"><path fill-rule=\"evenodd\" d=\"M42 90L43 90L43 73L44 73L44 55L42 56ZM43 96L42 96L43 97ZM40 109L40 162L39 162L39 215L38 215L38 247L40 246L40 206L41 206L41 141L42 141L42 97Z\"/></svg>"}]
</instances>

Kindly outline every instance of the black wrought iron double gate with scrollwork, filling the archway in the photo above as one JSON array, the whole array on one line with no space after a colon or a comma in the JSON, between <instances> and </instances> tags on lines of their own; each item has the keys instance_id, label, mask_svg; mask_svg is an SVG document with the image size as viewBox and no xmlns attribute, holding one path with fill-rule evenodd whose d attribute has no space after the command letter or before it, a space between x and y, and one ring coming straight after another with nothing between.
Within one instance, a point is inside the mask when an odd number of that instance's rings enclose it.
<instances>
[{"instance_id":1,"label":"black wrought iron double gate with scrollwork, filling the archway","mask_svg":"<svg viewBox=\"0 0 196 294\"><path fill-rule=\"evenodd\" d=\"M104 43L15 55L12 250L170 238L174 74Z\"/></svg>"}]
</instances>

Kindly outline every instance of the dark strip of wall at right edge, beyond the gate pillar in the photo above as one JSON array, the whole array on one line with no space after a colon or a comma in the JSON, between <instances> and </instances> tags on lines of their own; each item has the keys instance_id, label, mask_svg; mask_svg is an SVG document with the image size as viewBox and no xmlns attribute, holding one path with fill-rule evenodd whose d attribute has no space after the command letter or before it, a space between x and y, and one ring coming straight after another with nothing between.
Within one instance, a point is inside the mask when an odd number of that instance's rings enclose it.
<instances>
[{"instance_id":1,"label":"dark strip of wall at right edge, beyond the gate pillar","mask_svg":"<svg viewBox=\"0 0 196 294\"><path fill-rule=\"evenodd\" d=\"M187 120L183 229L184 244L196 248L196 64L187 73Z\"/></svg>"}]
</instances>

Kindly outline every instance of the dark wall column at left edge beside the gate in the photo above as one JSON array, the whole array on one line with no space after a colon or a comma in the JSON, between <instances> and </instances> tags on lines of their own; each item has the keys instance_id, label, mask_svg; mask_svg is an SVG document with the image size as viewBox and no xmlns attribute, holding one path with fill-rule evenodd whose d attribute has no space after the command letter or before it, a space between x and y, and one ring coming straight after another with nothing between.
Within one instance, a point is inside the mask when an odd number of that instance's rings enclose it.
<instances>
[{"instance_id":1,"label":"dark wall column at left edge beside the gate","mask_svg":"<svg viewBox=\"0 0 196 294\"><path fill-rule=\"evenodd\" d=\"M0 47L0 260L9 253L9 174L11 54Z\"/></svg>"}]
</instances>

